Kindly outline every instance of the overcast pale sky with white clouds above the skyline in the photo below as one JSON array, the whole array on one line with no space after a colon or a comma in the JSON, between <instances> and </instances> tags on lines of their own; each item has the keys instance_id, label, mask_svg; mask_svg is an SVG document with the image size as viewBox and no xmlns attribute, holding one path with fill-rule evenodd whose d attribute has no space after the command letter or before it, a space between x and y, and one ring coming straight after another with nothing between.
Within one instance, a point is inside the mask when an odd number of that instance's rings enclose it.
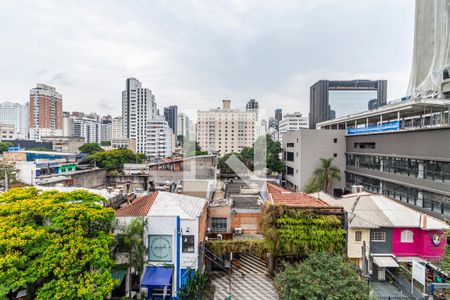
<instances>
[{"instance_id":1,"label":"overcast pale sky with white clouds above the skyline","mask_svg":"<svg viewBox=\"0 0 450 300\"><path fill-rule=\"evenodd\" d=\"M66 111L115 116L136 77L160 110L255 98L306 114L319 79L387 79L389 99L403 96L413 34L413 0L6 0L0 101L42 82Z\"/></svg>"}]
</instances>

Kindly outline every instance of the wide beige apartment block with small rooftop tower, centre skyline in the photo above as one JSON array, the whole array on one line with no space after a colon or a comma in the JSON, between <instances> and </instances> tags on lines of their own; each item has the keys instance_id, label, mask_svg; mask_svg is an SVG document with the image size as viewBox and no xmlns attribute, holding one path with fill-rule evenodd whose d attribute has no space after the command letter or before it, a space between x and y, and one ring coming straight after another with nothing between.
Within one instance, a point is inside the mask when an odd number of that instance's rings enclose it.
<instances>
[{"instance_id":1,"label":"wide beige apartment block with small rooftop tower, centre skyline","mask_svg":"<svg viewBox=\"0 0 450 300\"><path fill-rule=\"evenodd\" d=\"M222 108L197 111L197 141L203 150L220 155L251 147L257 138L256 111L231 109L231 100Z\"/></svg>"}]
</instances>

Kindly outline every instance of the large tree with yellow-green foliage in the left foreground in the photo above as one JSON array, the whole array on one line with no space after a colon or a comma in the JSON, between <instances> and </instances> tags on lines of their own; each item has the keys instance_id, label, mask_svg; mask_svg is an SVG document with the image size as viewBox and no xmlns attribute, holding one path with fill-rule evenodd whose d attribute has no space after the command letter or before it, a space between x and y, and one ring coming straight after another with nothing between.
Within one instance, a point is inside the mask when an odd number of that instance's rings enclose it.
<instances>
[{"instance_id":1,"label":"large tree with yellow-green foliage in the left foreground","mask_svg":"<svg viewBox=\"0 0 450 300\"><path fill-rule=\"evenodd\" d=\"M114 211L86 191L13 189L0 195L0 298L103 299L116 283Z\"/></svg>"}]
</instances>

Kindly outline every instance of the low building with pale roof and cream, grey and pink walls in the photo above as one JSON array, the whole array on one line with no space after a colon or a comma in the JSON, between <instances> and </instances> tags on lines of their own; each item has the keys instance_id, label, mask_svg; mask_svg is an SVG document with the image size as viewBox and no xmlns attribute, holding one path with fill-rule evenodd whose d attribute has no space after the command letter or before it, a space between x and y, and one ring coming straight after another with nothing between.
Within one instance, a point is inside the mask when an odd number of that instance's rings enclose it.
<instances>
[{"instance_id":1,"label":"low building with pale roof and cream, grey and pink walls","mask_svg":"<svg viewBox=\"0 0 450 300\"><path fill-rule=\"evenodd\" d=\"M334 199L313 196L347 213L347 256L373 280L384 281L386 269L401 262L440 260L445 253L443 221L382 195L360 192Z\"/></svg>"}]
</instances>

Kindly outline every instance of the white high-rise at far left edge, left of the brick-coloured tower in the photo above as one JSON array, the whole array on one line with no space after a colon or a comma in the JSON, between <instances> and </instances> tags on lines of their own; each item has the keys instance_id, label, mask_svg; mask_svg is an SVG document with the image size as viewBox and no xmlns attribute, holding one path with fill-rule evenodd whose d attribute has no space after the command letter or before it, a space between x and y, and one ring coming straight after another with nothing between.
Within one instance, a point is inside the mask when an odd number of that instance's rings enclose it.
<instances>
[{"instance_id":1,"label":"white high-rise at far left edge, left of the brick-coloured tower","mask_svg":"<svg viewBox=\"0 0 450 300\"><path fill-rule=\"evenodd\" d=\"M14 125L14 137L28 138L28 103L0 103L0 123Z\"/></svg>"}]
</instances>

